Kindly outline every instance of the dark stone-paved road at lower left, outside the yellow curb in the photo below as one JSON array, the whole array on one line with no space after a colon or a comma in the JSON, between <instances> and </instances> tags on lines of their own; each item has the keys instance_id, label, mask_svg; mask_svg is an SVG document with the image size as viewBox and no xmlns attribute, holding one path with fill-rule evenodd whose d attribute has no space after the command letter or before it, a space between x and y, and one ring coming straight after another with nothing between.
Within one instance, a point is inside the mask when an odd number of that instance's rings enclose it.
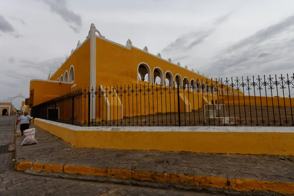
<instances>
[{"instance_id":1,"label":"dark stone-paved road at lower left, outside the yellow curb","mask_svg":"<svg viewBox=\"0 0 294 196\"><path fill-rule=\"evenodd\" d=\"M9 144L14 118L0 117L1 145ZM0 169L0 196L214 196L206 193L32 176L15 172L13 157L13 152L0 154L0 166L3 166Z\"/></svg>"}]
</instances>

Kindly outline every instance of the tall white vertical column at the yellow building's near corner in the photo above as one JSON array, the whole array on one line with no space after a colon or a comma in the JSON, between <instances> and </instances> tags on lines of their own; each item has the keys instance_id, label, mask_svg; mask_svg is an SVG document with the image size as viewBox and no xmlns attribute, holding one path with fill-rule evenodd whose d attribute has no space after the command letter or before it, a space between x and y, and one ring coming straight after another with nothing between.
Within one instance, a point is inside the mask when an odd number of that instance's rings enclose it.
<instances>
[{"instance_id":1,"label":"tall white vertical column at the yellow building's near corner","mask_svg":"<svg viewBox=\"0 0 294 196\"><path fill-rule=\"evenodd\" d=\"M90 28L90 90L96 90L96 27L92 23ZM91 94L90 119L96 121L96 98Z\"/></svg>"}]
</instances>

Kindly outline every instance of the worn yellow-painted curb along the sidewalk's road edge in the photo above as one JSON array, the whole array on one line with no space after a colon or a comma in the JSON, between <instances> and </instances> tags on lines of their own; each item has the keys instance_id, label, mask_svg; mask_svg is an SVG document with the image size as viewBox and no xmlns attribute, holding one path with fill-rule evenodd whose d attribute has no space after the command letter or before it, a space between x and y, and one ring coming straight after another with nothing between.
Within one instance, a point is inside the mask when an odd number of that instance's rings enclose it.
<instances>
[{"instance_id":1,"label":"worn yellow-painted curb along the sidewalk's road edge","mask_svg":"<svg viewBox=\"0 0 294 196\"><path fill-rule=\"evenodd\" d=\"M177 173L162 173L148 171L131 171L129 169L94 168L83 166L61 166L52 164L40 164L31 162L19 162L17 171L30 168L34 171L66 172L86 175L108 176L114 178L129 178L141 181L181 183L194 186L204 186L218 189L229 189L236 191L271 191L282 194L294 194L294 183L260 181L251 179L227 179L223 177L190 175Z\"/></svg>"}]
</instances>

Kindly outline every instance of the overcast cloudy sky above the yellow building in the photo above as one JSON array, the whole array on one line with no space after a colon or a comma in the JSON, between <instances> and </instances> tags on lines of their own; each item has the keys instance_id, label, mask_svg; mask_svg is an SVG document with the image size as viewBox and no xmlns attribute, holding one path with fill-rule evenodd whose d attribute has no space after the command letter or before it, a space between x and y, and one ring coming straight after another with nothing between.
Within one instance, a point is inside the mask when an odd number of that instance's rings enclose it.
<instances>
[{"instance_id":1,"label":"overcast cloudy sky above the yellow building","mask_svg":"<svg viewBox=\"0 0 294 196\"><path fill-rule=\"evenodd\" d=\"M0 0L0 99L28 96L91 23L210 77L294 71L294 0Z\"/></svg>"}]
</instances>

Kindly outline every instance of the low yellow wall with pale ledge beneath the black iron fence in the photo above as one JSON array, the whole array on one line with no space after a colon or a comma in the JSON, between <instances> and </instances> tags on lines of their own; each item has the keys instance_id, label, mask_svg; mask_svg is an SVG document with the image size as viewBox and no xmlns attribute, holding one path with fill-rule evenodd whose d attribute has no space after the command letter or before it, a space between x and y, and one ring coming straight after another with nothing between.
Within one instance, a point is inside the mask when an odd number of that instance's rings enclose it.
<instances>
[{"instance_id":1,"label":"low yellow wall with pale ledge beneath the black iron fence","mask_svg":"<svg viewBox=\"0 0 294 196\"><path fill-rule=\"evenodd\" d=\"M88 131L83 130L85 127L74 126L77 130L72 130L62 127L68 125L52 124L49 121L45 122L39 119L35 119L34 123L75 147L294 155L294 133L292 132L203 131L207 127L195 127L197 131L191 130L191 127L181 127L181 131L154 131L154 128L153 131L134 131L134 129L142 129L142 127L120 127L123 130L132 129L132 131L116 131L118 127L114 130L107 127L103 131L94 130L95 127L93 127L93 130ZM150 129L150 127L144 128ZM156 128L160 130L163 127ZM248 128L250 127L246 127L246 129Z\"/></svg>"}]
</instances>

